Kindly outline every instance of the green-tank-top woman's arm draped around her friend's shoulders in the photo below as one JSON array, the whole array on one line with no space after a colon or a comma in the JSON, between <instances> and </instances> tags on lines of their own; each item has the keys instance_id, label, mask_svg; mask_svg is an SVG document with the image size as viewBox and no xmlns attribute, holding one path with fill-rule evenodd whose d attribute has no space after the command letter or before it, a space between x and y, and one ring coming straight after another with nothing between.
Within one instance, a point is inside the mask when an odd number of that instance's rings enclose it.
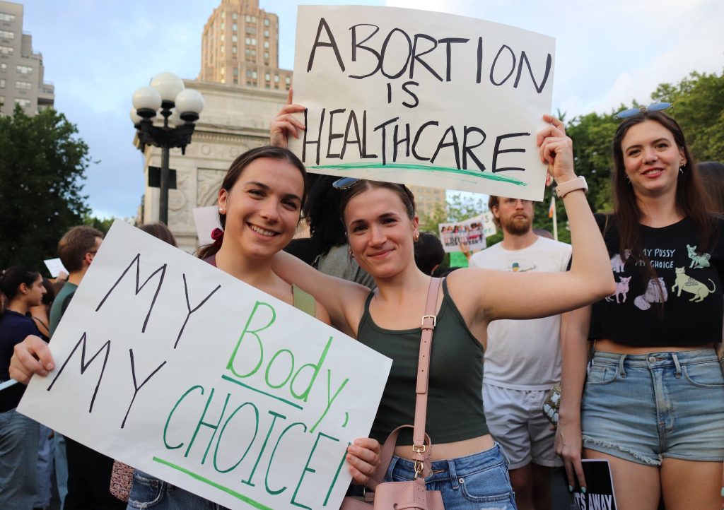
<instances>
[{"instance_id":1,"label":"green-tank-top woman's arm draped around her friend's shoulders","mask_svg":"<svg viewBox=\"0 0 724 510\"><path fill-rule=\"evenodd\" d=\"M271 270L285 281L297 284L327 309L332 324L350 336L357 336L364 301L369 294L366 286L320 273L315 268L287 252L274 255Z\"/></svg>"}]
</instances>

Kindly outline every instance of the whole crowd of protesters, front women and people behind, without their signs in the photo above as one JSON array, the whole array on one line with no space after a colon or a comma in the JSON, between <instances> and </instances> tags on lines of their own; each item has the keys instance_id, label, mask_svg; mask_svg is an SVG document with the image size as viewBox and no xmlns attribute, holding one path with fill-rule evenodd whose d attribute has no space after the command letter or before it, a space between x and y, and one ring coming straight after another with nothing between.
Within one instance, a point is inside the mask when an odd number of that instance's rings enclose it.
<instances>
[{"instance_id":1,"label":"whole crowd of protesters, front women and people behind, without their signs","mask_svg":"<svg viewBox=\"0 0 724 510\"><path fill-rule=\"evenodd\" d=\"M308 190L286 148L302 110L290 101L271 145L231 163L217 200L222 230L198 257L393 359L370 437L348 449L362 486L380 443L413 422L419 317L444 251L420 231L402 184L323 176ZM551 469L563 466L569 490L585 491L586 458L610 462L619 509L722 507L724 166L694 164L675 119L654 110L622 115L614 211L595 216L563 123L544 116L539 156L571 245L536 234L529 200L492 196L502 242L466 253L470 268L443 281L425 475L445 508L550 509ZM302 213L311 238L292 242ZM175 245L164 225L141 228ZM47 342L102 240L87 226L62 236L66 281L22 265L2 271L0 381L47 375ZM558 383L551 428L541 408ZM14 409L19 398L0 413L0 508L48 506L52 472L67 510L214 508L30 420ZM415 476L412 444L400 434L388 479Z\"/></svg>"}]
</instances>

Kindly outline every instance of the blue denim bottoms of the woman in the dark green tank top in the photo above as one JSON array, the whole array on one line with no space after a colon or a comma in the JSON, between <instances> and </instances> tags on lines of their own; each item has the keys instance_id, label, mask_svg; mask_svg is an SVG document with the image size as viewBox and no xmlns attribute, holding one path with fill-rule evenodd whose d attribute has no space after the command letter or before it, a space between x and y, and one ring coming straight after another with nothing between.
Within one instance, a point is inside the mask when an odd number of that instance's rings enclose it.
<instances>
[{"instance_id":1,"label":"blue denim bottoms of the woman in the dark green tank top","mask_svg":"<svg viewBox=\"0 0 724 510\"><path fill-rule=\"evenodd\" d=\"M413 462L393 456L384 481L404 482L414 478ZM445 510L517 509L508 477L508 461L498 443L479 454L433 462L425 486L427 490L442 493Z\"/></svg>"}]
</instances>

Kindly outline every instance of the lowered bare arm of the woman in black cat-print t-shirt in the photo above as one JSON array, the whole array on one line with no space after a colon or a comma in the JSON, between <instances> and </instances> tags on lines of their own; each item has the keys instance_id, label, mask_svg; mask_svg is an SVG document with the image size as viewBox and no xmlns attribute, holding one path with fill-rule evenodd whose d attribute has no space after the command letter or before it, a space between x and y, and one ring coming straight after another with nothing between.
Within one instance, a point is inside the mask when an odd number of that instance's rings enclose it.
<instances>
[{"instance_id":1,"label":"lowered bare arm of the woman in black cat-print t-shirt","mask_svg":"<svg viewBox=\"0 0 724 510\"><path fill-rule=\"evenodd\" d=\"M573 490L576 479L581 487L586 487L581 465L581 396L586 382L591 307L564 315L560 325L562 365L555 453L563 459L568 489Z\"/></svg>"}]
</instances>

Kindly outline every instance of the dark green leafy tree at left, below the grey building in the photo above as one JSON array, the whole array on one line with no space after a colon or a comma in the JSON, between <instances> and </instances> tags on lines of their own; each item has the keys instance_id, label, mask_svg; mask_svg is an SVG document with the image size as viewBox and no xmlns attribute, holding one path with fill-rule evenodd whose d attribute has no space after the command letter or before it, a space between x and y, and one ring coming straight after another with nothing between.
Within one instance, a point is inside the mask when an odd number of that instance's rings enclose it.
<instances>
[{"instance_id":1,"label":"dark green leafy tree at left, below the grey building","mask_svg":"<svg viewBox=\"0 0 724 510\"><path fill-rule=\"evenodd\" d=\"M0 116L1 267L56 257L58 239L88 215L89 162L75 125L54 109Z\"/></svg>"}]
</instances>

